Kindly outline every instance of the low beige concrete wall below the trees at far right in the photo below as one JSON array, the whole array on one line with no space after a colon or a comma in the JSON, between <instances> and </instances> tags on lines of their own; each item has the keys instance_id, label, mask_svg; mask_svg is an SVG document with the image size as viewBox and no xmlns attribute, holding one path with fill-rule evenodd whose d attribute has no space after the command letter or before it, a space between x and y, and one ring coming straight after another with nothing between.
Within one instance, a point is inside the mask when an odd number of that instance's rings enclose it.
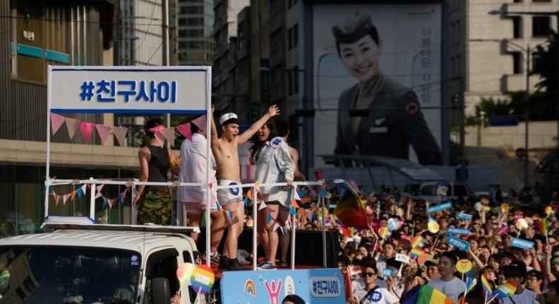
<instances>
[{"instance_id":1,"label":"low beige concrete wall below the trees at far right","mask_svg":"<svg viewBox=\"0 0 559 304\"><path fill-rule=\"evenodd\" d=\"M525 127L524 122L514 127L466 127L466 146L524 148ZM528 128L529 148L557 145L557 122L529 122Z\"/></svg>"}]
</instances>

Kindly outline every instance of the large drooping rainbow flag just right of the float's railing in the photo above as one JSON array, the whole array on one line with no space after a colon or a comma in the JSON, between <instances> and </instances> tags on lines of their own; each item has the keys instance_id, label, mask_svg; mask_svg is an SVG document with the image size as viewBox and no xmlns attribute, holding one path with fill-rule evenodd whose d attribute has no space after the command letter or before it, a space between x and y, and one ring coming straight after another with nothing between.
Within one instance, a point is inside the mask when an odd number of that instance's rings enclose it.
<instances>
[{"instance_id":1,"label":"large drooping rainbow flag just right of the float's railing","mask_svg":"<svg viewBox=\"0 0 559 304\"><path fill-rule=\"evenodd\" d=\"M367 214L359 192L350 182L342 180L341 184L346 191L334 209L335 216L340 218L345 227L367 227Z\"/></svg>"}]
</instances>

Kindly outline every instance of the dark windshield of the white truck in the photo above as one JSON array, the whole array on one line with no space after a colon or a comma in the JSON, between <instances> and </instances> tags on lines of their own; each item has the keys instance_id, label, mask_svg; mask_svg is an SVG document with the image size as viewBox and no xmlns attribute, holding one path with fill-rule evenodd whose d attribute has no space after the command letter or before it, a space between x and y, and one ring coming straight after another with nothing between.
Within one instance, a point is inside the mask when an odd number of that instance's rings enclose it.
<instances>
[{"instance_id":1,"label":"dark windshield of the white truck","mask_svg":"<svg viewBox=\"0 0 559 304\"><path fill-rule=\"evenodd\" d=\"M92 247L0 247L1 303L135 303L137 252Z\"/></svg>"}]
</instances>

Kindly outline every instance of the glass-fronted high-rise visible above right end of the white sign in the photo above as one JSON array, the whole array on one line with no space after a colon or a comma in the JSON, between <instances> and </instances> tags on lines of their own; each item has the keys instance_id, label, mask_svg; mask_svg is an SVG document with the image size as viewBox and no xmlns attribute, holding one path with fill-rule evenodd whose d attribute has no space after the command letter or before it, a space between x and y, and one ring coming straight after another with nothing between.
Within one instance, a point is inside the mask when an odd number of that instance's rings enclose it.
<instances>
[{"instance_id":1,"label":"glass-fronted high-rise visible above right end of the white sign","mask_svg":"<svg viewBox=\"0 0 559 304\"><path fill-rule=\"evenodd\" d=\"M213 2L178 1L178 65L212 65L215 47Z\"/></svg>"}]
</instances>

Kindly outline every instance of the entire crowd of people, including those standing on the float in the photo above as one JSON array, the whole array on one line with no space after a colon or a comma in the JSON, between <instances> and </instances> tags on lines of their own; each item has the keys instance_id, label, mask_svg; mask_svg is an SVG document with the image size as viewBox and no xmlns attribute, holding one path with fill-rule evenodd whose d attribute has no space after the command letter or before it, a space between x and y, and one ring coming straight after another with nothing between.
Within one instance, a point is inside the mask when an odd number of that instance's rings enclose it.
<instances>
[{"instance_id":1,"label":"entire crowd of people, including those standing on the float","mask_svg":"<svg viewBox=\"0 0 559 304\"><path fill-rule=\"evenodd\" d=\"M221 270L244 269L236 257L237 240L243 226L251 226L254 215L245 214L247 193L240 187L237 148L250 141L256 181L287 183L287 187L258 189L258 238L265 251L260 269L275 269L278 256L284 264L289 226L321 229L324 221L325 227L340 235L337 258L345 275L347 303L413 303L409 301L415 299L421 286L430 286L454 302L559 303L557 196L555 201L546 202L529 189L510 191L505 196L492 189L490 197L450 199L434 205L406 196L398 189L381 187L367 194L355 187L367 226L353 226L341 221L334 208L342 203L342 194L348 189L337 185L321 189L301 187L298 204L292 203L292 182L303 180L304 175L296 166L296 151L286 143L289 127L275 117L277 114L279 109L270 107L243 133L239 133L236 115L222 115L219 137L212 119L212 169L217 177L214 185L222 187L212 189L210 194L210 250L212 262L219 262ZM172 169L186 173L180 175L182 182L203 182L205 168L201 165L206 159L202 148L207 143L204 128L192 124L194 136L183 143L181 156L175 159L172 152L168 153L154 140L154 127L160 124L146 127L151 146L159 146L159 150L149 147L140 151L142 180L166 180L159 173ZM203 187L190 188L179 193L179 201L185 205L190 225L199 225L207 193ZM143 191L140 189L139 193ZM161 219L158 212L162 210L161 197L165 196L161 191L146 189L148 195L134 201L134 206L151 216L146 221L154 216ZM332 207L324 214L319 196L324 197L325 206ZM296 212L292 212L294 208ZM289 217L290 214L296 216ZM219 255L217 245L224 235L224 226L225 249ZM278 233L278 228L282 233ZM476 279L476 283L471 283L471 279ZM494 296L492 291L504 283L514 286L514 292Z\"/></svg>"}]
</instances>

